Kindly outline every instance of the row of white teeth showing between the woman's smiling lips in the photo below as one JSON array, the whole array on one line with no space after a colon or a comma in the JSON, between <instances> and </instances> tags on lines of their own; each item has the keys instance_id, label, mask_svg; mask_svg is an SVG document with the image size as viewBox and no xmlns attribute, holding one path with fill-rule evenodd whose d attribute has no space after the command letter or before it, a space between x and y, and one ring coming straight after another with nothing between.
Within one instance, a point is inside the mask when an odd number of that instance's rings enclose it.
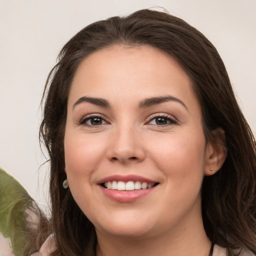
<instances>
[{"instance_id":1,"label":"row of white teeth showing between the woman's smiling lips","mask_svg":"<svg viewBox=\"0 0 256 256\"><path fill-rule=\"evenodd\" d=\"M139 190L139 189L147 189L153 186L158 185L159 183L147 183L147 182L140 182L140 181L107 181L101 183L101 186L107 189L113 190Z\"/></svg>"}]
</instances>

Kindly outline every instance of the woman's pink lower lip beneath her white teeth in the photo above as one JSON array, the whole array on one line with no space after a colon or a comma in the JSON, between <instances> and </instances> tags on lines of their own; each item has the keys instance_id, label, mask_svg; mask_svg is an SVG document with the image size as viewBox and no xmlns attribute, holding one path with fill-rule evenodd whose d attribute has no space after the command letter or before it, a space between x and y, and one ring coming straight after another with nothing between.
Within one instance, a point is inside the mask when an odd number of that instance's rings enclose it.
<instances>
[{"instance_id":1,"label":"woman's pink lower lip beneath her white teeth","mask_svg":"<svg viewBox=\"0 0 256 256\"><path fill-rule=\"evenodd\" d=\"M101 188L101 191L112 200L118 202L133 202L151 193L157 187L157 185L138 190L115 190L104 188L101 185L99 185L99 187Z\"/></svg>"}]
</instances>

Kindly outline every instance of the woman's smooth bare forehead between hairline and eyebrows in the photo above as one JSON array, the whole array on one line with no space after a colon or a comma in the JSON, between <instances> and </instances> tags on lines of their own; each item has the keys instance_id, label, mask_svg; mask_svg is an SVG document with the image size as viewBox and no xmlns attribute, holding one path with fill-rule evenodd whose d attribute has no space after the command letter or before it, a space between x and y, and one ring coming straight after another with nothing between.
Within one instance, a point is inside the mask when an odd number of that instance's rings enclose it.
<instances>
[{"instance_id":1,"label":"woman's smooth bare forehead between hairline and eyebrows","mask_svg":"<svg viewBox=\"0 0 256 256\"><path fill-rule=\"evenodd\" d=\"M114 45L98 50L79 64L69 101L81 96L116 100L171 94L194 97L191 80L166 53L150 46Z\"/></svg>"}]
</instances>

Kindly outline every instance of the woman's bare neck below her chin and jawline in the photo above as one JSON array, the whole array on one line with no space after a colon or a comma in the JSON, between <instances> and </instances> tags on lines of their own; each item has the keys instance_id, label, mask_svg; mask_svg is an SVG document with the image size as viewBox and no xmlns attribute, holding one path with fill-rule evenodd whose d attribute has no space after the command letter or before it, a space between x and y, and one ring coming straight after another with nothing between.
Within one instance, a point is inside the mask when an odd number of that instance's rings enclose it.
<instances>
[{"instance_id":1,"label":"woman's bare neck below her chin and jawline","mask_svg":"<svg viewBox=\"0 0 256 256\"><path fill-rule=\"evenodd\" d=\"M97 232L97 256L208 256L211 241L201 219L194 221L194 228L178 225L161 235L140 237L115 236Z\"/></svg>"}]
</instances>

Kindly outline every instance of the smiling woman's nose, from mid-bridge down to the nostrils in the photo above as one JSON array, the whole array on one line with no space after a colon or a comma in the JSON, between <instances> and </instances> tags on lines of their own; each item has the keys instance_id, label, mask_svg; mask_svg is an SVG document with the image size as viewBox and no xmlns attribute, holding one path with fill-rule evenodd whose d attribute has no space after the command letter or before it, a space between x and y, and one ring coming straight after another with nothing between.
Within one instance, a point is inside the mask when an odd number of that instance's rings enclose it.
<instances>
[{"instance_id":1,"label":"smiling woman's nose, from mid-bridge down to the nostrils","mask_svg":"<svg viewBox=\"0 0 256 256\"><path fill-rule=\"evenodd\" d=\"M143 143L135 128L116 130L109 139L111 142L107 157L110 161L131 163L140 162L145 158Z\"/></svg>"}]
</instances>

